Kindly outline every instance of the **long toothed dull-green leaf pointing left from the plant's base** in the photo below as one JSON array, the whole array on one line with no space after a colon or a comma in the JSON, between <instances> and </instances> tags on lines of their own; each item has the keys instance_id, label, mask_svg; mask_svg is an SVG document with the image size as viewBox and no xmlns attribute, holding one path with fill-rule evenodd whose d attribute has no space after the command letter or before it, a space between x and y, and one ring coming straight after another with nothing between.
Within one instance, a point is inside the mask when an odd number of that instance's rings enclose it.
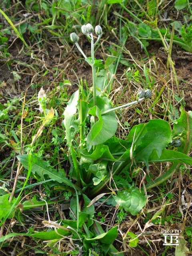
<instances>
[{"instance_id":1,"label":"long toothed dull-green leaf pointing left from the plant's base","mask_svg":"<svg viewBox=\"0 0 192 256\"><path fill-rule=\"evenodd\" d=\"M29 155L20 155L17 156L20 163L28 170L29 168ZM50 179L56 180L57 182L63 182L66 185L74 188L74 184L68 180L63 172L57 172L56 170L50 168L50 165L42 161L37 156L32 155L32 173L38 174L40 177L47 175Z\"/></svg>"}]
</instances>

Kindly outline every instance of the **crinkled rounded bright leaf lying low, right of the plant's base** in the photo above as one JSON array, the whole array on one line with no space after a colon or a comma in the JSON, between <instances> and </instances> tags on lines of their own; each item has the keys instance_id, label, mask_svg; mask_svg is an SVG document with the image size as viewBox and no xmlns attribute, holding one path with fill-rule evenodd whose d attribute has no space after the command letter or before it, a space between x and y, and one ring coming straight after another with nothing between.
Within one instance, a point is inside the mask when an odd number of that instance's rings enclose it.
<instances>
[{"instance_id":1,"label":"crinkled rounded bright leaf lying low, right of the plant's base","mask_svg":"<svg viewBox=\"0 0 192 256\"><path fill-rule=\"evenodd\" d=\"M145 206L147 197L143 191L140 192L138 188L133 188L128 191L118 191L118 196L114 196L114 199L120 208L124 208L126 212L136 215Z\"/></svg>"}]
</instances>

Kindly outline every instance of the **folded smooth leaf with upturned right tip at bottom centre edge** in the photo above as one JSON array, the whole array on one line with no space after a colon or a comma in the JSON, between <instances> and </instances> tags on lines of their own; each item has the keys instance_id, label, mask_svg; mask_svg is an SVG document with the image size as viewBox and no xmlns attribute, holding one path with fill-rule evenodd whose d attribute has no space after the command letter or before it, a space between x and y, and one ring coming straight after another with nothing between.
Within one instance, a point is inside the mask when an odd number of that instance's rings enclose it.
<instances>
[{"instance_id":1,"label":"folded smooth leaf with upturned right tip at bottom centre edge","mask_svg":"<svg viewBox=\"0 0 192 256\"><path fill-rule=\"evenodd\" d=\"M93 243L99 242L103 249L103 254L106 255L110 245L114 242L118 235L117 226L110 229L107 233L102 233L94 238L84 239L85 252L88 252L89 248L92 247Z\"/></svg>"}]
</instances>

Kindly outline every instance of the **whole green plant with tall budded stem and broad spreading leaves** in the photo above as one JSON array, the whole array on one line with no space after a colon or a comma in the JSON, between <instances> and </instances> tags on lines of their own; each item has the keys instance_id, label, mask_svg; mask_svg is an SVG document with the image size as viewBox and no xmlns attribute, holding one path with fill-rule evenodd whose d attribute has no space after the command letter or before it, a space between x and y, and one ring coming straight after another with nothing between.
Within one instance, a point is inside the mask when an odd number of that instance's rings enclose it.
<instances>
[{"instance_id":1,"label":"whole green plant with tall budded stem and broad spreading leaves","mask_svg":"<svg viewBox=\"0 0 192 256\"><path fill-rule=\"evenodd\" d=\"M59 242L64 236L72 236L77 240L78 246L83 246L86 254L112 255L117 250L112 246L112 242L118 235L117 226L104 232L100 224L94 218L94 202L100 199L104 194L110 193L114 196L116 203L121 211L136 215L145 206L147 201L146 190L157 186L179 168L181 163L192 164L192 158L186 154L191 146L192 130L192 112L181 110L181 116L176 120L173 130L165 120L154 119L146 124L134 126L125 139L116 136L118 122L116 110L123 107L138 104L146 101L152 94L150 89L141 90L137 94L135 101L122 106L112 106L111 98L106 93L107 84L97 84L96 73L103 67L102 60L94 58L94 46L99 42L102 36L102 28L96 26L95 34L98 36L94 42L93 27L91 24L82 26L82 32L88 37L91 43L91 57L86 56L78 44L79 37L72 33L70 38L76 44L86 62L92 68L92 88L85 90L82 84L79 84L79 90L72 94L64 111L64 130L65 142L67 145L68 159L71 167L66 177L63 170L56 171L48 162L41 160L35 152L34 142L40 138L43 129L50 125L54 119L54 110L46 109L46 96L39 97L39 105L44 117L42 125L32 138L32 143L28 146L28 154L17 156L20 164L27 170L26 182L20 190L17 198L10 198L9 194L1 197L0 216L1 225L6 218L11 218L18 214L19 207L23 210L33 208L34 205L46 205L52 202L41 202L35 197L30 201L20 202L21 194L24 188L29 188L27 184L30 176L33 176L38 182L51 182L57 188L64 190L64 200L70 198L70 220L61 222L48 219L44 221L45 229L53 228L50 232L42 231L38 233L22 233L43 240L52 240ZM177 148L173 144L172 150L167 149L172 143L172 138L179 138L181 146ZM55 137L56 138L56 137ZM178 144L177 144L178 145ZM65 156L66 157L66 156ZM138 166L149 170L149 163L153 162L174 162L170 169L160 178L144 184L141 188L132 180L131 174ZM18 172L19 172L18 168ZM112 182L114 176L129 176L126 182L118 184L118 191L115 190L115 184ZM144 177L143 177L144 178ZM40 181L41 180L41 181ZM122 187L120 187L122 186ZM63 199L61 199L63 200ZM58 200L59 202L60 200ZM20 204L19 204L20 202ZM69 203L65 202L66 207ZM19 206L18 206L19 205ZM6 207L5 207L6 206ZM5 209L6 210L5 210ZM125 216L122 214L121 218ZM0 242L7 238L16 236L18 233L8 234L0 238ZM131 238L131 246L137 246L138 240L131 232L128 234ZM131 241L134 239L134 242ZM118 255L123 255L120 252Z\"/></svg>"}]
</instances>

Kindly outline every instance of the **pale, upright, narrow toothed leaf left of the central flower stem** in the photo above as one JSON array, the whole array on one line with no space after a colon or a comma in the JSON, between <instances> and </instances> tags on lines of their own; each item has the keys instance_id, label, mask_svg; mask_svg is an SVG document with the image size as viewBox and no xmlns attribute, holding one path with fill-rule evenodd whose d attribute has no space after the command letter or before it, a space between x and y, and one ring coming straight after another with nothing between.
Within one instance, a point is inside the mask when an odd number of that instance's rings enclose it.
<instances>
[{"instance_id":1,"label":"pale, upright, narrow toothed leaf left of the central flower stem","mask_svg":"<svg viewBox=\"0 0 192 256\"><path fill-rule=\"evenodd\" d=\"M69 102L67 103L66 109L64 111L63 124L66 132L67 145L69 147L71 146L76 130L78 129L75 122L76 121L75 114L77 111L78 100L79 100L79 91L77 90L76 92L74 92L74 94L72 94Z\"/></svg>"}]
</instances>

